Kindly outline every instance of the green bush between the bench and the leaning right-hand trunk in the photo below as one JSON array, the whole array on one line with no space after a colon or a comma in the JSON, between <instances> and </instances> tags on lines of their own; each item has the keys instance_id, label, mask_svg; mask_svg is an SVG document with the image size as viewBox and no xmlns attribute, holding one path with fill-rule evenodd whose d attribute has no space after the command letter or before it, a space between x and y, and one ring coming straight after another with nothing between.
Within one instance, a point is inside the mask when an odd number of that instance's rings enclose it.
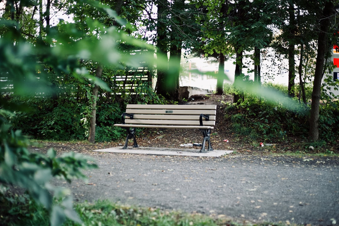
<instances>
[{"instance_id":1,"label":"green bush between the bench and the leaning right-hand trunk","mask_svg":"<svg viewBox=\"0 0 339 226\"><path fill-rule=\"evenodd\" d=\"M288 135L308 132L307 108L289 110L282 104L247 96L240 104L228 105L225 113L233 131L251 140L281 141Z\"/></svg>"}]
</instances>

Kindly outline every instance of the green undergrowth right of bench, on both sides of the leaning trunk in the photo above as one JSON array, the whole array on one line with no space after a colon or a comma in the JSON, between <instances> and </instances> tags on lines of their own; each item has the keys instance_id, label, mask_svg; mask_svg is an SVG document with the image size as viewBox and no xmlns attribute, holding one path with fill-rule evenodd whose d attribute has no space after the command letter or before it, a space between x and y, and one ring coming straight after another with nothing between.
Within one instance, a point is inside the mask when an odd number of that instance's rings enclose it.
<instances>
[{"instance_id":1,"label":"green undergrowth right of bench, on both sides of the leaning trunk","mask_svg":"<svg viewBox=\"0 0 339 226\"><path fill-rule=\"evenodd\" d=\"M277 92L286 94L287 87L265 84ZM287 98L287 97L286 97ZM339 102L324 101L319 109L320 140L317 144L332 145L338 140ZM295 98L295 106L267 101L263 97L246 94L241 103L228 103L225 119L232 131L247 140L260 139L266 142L284 141L288 137L307 139L310 103L304 105ZM318 145L319 146L319 145Z\"/></svg>"}]
</instances>

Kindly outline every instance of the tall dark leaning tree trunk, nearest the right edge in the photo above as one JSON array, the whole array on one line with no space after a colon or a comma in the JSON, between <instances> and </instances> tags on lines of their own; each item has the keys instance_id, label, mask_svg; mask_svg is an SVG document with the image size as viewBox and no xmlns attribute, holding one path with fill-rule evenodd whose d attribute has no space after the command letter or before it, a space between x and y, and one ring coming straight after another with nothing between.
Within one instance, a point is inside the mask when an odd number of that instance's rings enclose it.
<instances>
[{"instance_id":1,"label":"tall dark leaning tree trunk, nearest the right edge","mask_svg":"<svg viewBox=\"0 0 339 226\"><path fill-rule=\"evenodd\" d=\"M320 106L320 95L321 95L321 80L323 76L323 67L325 61L325 54L328 50L327 44L330 43L328 40L328 34L330 30L330 19L334 15L334 4L332 1L325 3L322 17L320 20L320 29L318 35L318 50L316 69L314 74L314 83L312 90L312 104L311 104L311 115L310 115L310 138L313 141L319 139L319 106Z\"/></svg>"}]
</instances>

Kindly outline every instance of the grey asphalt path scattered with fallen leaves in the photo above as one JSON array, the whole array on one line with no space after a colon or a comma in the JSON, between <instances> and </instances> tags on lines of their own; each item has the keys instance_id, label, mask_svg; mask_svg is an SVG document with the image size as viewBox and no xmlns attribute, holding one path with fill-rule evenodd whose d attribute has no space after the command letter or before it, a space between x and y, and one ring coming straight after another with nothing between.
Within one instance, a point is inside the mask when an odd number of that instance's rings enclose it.
<instances>
[{"instance_id":1,"label":"grey asphalt path scattered with fallen leaves","mask_svg":"<svg viewBox=\"0 0 339 226\"><path fill-rule=\"evenodd\" d=\"M339 224L338 158L199 158L90 153L98 169L69 187L76 201L198 212L236 221Z\"/></svg>"}]
</instances>

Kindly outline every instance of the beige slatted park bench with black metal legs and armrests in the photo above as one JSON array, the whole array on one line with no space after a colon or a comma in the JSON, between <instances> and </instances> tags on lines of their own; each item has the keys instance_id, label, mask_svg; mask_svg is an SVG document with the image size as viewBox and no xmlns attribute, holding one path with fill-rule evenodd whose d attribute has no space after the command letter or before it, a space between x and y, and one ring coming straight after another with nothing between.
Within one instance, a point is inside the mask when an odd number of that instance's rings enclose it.
<instances>
[{"instance_id":1,"label":"beige slatted park bench with black metal legs and armrests","mask_svg":"<svg viewBox=\"0 0 339 226\"><path fill-rule=\"evenodd\" d=\"M168 129L199 129L203 135L200 152L213 150L210 135L216 120L216 105L157 105L127 104L126 112L121 115L120 126L127 131L123 149L127 149L128 140L133 138L133 147L139 147L135 138L135 129L168 128Z\"/></svg>"}]
</instances>

